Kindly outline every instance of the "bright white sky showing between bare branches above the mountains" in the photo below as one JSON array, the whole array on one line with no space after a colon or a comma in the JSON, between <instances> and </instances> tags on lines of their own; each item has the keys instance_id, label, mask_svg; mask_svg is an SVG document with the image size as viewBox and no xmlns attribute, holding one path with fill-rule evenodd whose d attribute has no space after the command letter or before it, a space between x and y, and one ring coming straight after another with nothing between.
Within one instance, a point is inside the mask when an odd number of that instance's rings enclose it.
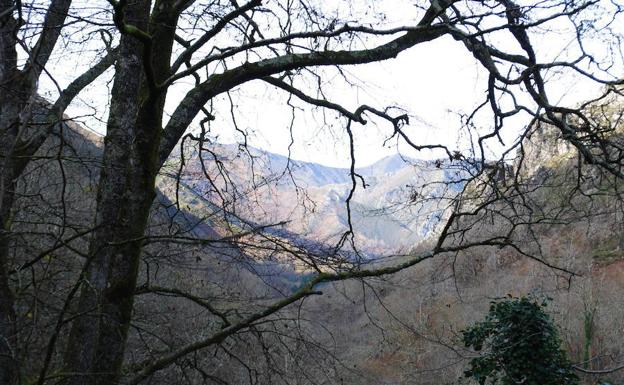
<instances>
[{"instance_id":1,"label":"bright white sky showing between bare branches above the mountains","mask_svg":"<svg viewBox=\"0 0 624 385\"><path fill-rule=\"evenodd\" d=\"M352 8L350 11L355 12L354 17L371 20L377 18L376 12L385 10L385 18L377 25L380 28L413 24L422 13L411 1L382 1L375 2L368 8L362 7L362 10L358 8L358 4L370 3L354 2L354 5L351 5L350 2L332 2L332 6L336 7L336 13L344 12L340 7L350 6ZM103 4L103 7L106 9L107 5ZM600 15L596 15L596 19L597 23L601 22ZM602 22L606 23L604 20ZM614 24L617 27L617 23ZM549 28L551 39L546 40L536 34L531 36L540 62L569 59L578 54L575 36L568 21L564 18L553 20L544 25L544 28ZM617 28L621 29L621 26ZM509 44L511 49L515 49L512 48L514 41L505 33L494 34L491 39L499 39L499 43ZM553 39L553 36L559 38ZM368 42L366 45L372 46L379 40ZM590 46L586 48L598 55L617 54L608 52L608 47L601 46L598 40L591 41ZM85 50L84 47L82 49ZM57 56L56 65L50 70L54 82L49 78L44 79L43 94L55 94L57 84L60 86L67 84L76 73L80 73L81 66L91 64L82 63L85 55L88 56L89 53L84 51L68 53L66 50L63 55ZM613 60L615 66L610 72L619 71L621 74L621 56ZM462 130L460 114L471 113L485 100L487 75L461 43L444 37L409 49L396 59L361 66L346 66L342 69L346 80L334 68L322 68L318 71L323 74L321 87L328 100L350 110L355 110L361 104L377 109L400 107L410 116L410 125L405 127L405 131L418 144L440 143L460 151L466 151L470 147L469 134L466 130ZM108 76L90 87L82 95L82 99L68 110L70 116L77 117L90 129L101 134L104 133L103 122L107 114L104 106L108 105L103 103L102 99L108 97L108 81L111 75L112 72L109 71ZM314 94L317 84L313 80L310 77L307 78L308 84L300 83L302 91ZM563 98L570 106L587 100L598 92L596 84L582 81L581 77L572 71L553 73L548 80L549 91L552 93L549 95L551 100L559 101ZM169 92L168 111L172 111L192 84L192 78L185 78L172 87ZM528 97L523 102L531 104ZM349 164L344 118L337 118L333 112L311 109L296 97L289 100L285 92L262 82L244 84L229 96L221 95L215 99L212 110L216 120L211 123L211 133L220 142L242 141L244 139L242 131L248 134L250 145L271 152L287 155L290 150L291 156L295 159L332 166L344 167ZM395 111L394 114L403 113ZM478 114L475 129L491 130L490 115L487 112ZM500 154L511 144L507 143L507 138L514 138L529 119L527 114L523 114L506 121L501 135L505 145L498 140L489 141L487 145L491 153ZM444 156L442 152L417 153L401 141L397 146L396 138L386 142L384 146L384 140L391 135L392 127L387 122L368 120L369 123L365 126L354 125L356 158L359 165L370 164L384 156L395 154L397 149L410 157ZM294 139L292 146L291 138Z\"/></svg>"}]
</instances>

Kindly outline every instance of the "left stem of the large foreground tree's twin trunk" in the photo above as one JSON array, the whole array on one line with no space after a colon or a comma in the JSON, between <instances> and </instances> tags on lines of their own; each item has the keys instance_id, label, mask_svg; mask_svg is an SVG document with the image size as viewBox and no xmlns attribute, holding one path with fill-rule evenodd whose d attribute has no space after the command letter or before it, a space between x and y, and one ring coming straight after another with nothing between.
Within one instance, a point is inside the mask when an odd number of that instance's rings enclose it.
<instances>
[{"instance_id":1,"label":"left stem of the large foreground tree's twin trunk","mask_svg":"<svg viewBox=\"0 0 624 385\"><path fill-rule=\"evenodd\" d=\"M65 356L67 372L76 374L68 379L68 384L95 383L97 377L114 383L120 366L114 357L123 356L123 344L113 341L115 336L111 334L119 333L117 338L125 339L126 330L120 330L120 315L115 314L110 302L123 301L127 293L122 288L124 282L117 281L120 277L112 276L112 268L124 265L132 269L136 265L136 248L123 242L140 237L145 228L145 221L135 216L138 213L128 211L128 206L132 206L128 184L133 178L129 148L134 140L142 72L140 43L124 37L121 44L99 181L99 227L90 242L87 281L78 305L78 311L86 315L73 323ZM100 344L108 344L106 352L102 352ZM99 376L93 375L96 365Z\"/></svg>"}]
</instances>

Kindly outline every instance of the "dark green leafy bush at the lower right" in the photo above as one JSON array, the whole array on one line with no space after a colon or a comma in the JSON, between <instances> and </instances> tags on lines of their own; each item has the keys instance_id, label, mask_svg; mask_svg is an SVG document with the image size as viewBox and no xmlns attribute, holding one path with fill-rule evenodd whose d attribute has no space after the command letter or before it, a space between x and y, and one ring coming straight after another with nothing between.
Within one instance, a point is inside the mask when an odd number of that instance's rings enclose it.
<instances>
[{"instance_id":1,"label":"dark green leafy bush at the lower right","mask_svg":"<svg viewBox=\"0 0 624 385\"><path fill-rule=\"evenodd\" d=\"M507 298L493 301L485 320L465 329L463 343L484 354L464 372L484 385L578 384L557 326L544 311L547 300Z\"/></svg>"}]
</instances>

